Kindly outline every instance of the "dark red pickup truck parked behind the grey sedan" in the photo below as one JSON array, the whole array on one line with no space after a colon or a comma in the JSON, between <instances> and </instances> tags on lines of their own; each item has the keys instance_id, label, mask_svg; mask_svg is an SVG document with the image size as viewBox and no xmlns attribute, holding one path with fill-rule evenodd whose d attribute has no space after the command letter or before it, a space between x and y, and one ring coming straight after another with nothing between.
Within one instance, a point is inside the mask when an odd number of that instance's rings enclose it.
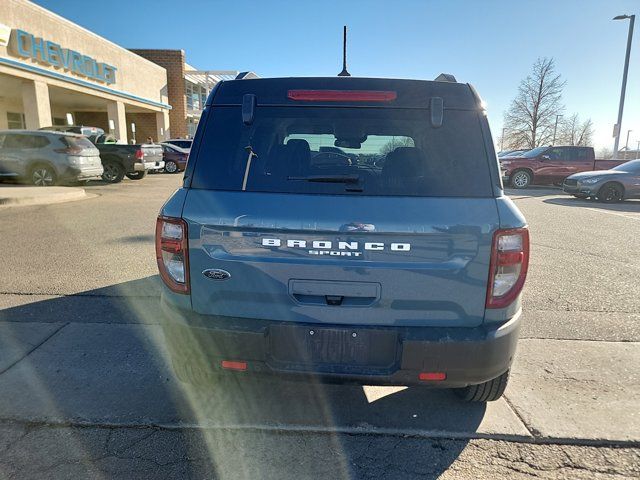
<instances>
[{"instance_id":1,"label":"dark red pickup truck parked behind the grey sedan","mask_svg":"<svg viewBox=\"0 0 640 480\"><path fill-rule=\"evenodd\" d=\"M515 157L502 157L500 168L505 185L560 184L569 175L592 170L608 170L624 160L598 160L592 147L538 147Z\"/></svg>"}]
</instances>

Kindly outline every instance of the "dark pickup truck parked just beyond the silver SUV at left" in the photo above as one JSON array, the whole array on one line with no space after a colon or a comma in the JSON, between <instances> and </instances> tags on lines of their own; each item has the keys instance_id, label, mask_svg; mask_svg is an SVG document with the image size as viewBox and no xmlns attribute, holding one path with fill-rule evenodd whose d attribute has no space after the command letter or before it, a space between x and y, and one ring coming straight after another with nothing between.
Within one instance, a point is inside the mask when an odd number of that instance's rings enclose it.
<instances>
[{"instance_id":1,"label":"dark pickup truck parked just beyond the silver SUV at left","mask_svg":"<svg viewBox=\"0 0 640 480\"><path fill-rule=\"evenodd\" d=\"M40 130L53 130L85 135L100 151L104 173L102 179L109 183L119 183L125 175L131 180L144 178L150 170L164 168L162 145L127 145L116 143L111 135L106 135L98 127L79 125L44 127Z\"/></svg>"}]
</instances>

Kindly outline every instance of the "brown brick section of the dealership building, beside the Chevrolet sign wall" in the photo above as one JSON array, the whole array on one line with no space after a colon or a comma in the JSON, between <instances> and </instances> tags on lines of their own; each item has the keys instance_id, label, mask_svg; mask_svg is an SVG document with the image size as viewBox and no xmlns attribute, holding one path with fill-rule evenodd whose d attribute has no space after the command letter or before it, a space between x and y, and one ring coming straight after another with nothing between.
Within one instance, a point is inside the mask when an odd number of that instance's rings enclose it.
<instances>
[{"instance_id":1,"label":"brown brick section of the dealership building, beside the Chevrolet sign wall","mask_svg":"<svg viewBox=\"0 0 640 480\"><path fill-rule=\"evenodd\" d=\"M172 107L169 111L169 134L171 138L186 137L189 131L187 99L184 95L184 50L132 49L131 51L167 70L167 96L169 105ZM139 132L136 134L141 138ZM151 136L154 135L155 129Z\"/></svg>"}]
</instances>

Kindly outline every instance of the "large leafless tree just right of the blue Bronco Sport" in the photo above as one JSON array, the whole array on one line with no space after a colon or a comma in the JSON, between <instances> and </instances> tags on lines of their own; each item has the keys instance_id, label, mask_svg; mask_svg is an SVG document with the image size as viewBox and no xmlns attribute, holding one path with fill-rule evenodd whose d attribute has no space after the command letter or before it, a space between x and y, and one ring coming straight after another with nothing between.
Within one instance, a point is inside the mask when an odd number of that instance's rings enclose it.
<instances>
[{"instance_id":1,"label":"large leafless tree just right of the blue Bronco Sport","mask_svg":"<svg viewBox=\"0 0 640 480\"><path fill-rule=\"evenodd\" d=\"M564 110L565 83L555 71L553 58L536 60L504 114L505 146L535 148L551 143L556 115Z\"/></svg>"}]
</instances>

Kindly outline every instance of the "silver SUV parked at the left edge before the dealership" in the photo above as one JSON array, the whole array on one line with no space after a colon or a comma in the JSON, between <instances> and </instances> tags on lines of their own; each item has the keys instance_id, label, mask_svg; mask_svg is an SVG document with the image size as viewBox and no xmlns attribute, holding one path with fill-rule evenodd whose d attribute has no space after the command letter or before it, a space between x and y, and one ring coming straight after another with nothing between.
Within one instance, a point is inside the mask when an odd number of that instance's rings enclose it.
<instances>
[{"instance_id":1,"label":"silver SUV parked at the left edge before the dealership","mask_svg":"<svg viewBox=\"0 0 640 480\"><path fill-rule=\"evenodd\" d=\"M82 135L0 131L0 178L46 187L100 178L102 173L98 149Z\"/></svg>"}]
</instances>

